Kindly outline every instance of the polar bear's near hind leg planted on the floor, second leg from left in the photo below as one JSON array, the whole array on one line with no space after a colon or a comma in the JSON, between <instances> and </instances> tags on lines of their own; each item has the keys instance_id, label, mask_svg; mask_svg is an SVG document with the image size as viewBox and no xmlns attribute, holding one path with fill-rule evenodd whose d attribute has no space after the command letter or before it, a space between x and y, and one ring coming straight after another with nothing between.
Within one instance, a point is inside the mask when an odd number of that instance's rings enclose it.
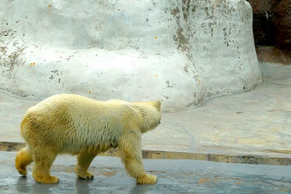
<instances>
[{"instance_id":1,"label":"polar bear's near hind leg planted on the floor, second leg from left","mask_svg":"<svg viewBox=\"0 0 291 194\"><path fill-rule=\"evenodd\" d=\"M52 149L50 150L46 147L37 147L37 150L33 150L32 177L36 182L43 184L56 184L59 182L59 178L50 175L50 166L57 155Z\"/></svg>"}]
</instances>

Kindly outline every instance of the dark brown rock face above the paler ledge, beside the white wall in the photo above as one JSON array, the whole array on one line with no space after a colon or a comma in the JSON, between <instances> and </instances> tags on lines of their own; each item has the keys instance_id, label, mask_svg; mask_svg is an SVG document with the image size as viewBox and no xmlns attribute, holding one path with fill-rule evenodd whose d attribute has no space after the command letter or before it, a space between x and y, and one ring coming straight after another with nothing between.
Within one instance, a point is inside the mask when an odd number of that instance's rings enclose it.
<instances>
[{"instance_id":1,"label":"dark brown rock face above the paler ledge, beside the white wall","mask_svg":"<svg viewBox=\"0 0 291 194\"><path fill-rule=\"evenodd\" d=\"M257 45L291 50L291 0L247 0L254 10Z\"/></svg>"}]
</instances>

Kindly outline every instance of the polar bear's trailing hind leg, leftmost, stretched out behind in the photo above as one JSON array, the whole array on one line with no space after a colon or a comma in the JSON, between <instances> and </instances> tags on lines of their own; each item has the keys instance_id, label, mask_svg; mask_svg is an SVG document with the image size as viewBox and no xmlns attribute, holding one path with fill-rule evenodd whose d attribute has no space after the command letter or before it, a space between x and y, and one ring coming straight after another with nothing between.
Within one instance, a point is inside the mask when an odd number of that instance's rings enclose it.
<instances>
[{"instance_id":1,"label":"polar bear's trailing hind leg, leftmost, stretched out behind","mask_svg":"<svg viewBox=\"0 0 291 194\"><path fill-rule=\"evenodd\" d=\"M26 146L17 152L15 159L15 167L21 175L26 176L27 174L26 166L32 162L33 162L32 153L31 148L29 146Z\"/></svg>"}]
</instances>

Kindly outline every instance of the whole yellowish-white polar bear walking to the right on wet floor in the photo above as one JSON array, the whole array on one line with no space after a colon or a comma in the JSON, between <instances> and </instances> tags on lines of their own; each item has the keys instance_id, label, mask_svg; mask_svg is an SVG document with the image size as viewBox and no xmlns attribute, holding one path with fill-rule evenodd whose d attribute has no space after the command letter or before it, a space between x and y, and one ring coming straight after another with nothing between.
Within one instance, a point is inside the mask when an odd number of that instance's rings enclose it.
<instances>
[{"instance_id":1,"label":"whole yellowish-white polar bear walking to the right on wet floor","mask_svg":"<svg viewBox=\"0 0 291 194\"><path fill-rule=\"evenodd\" d=\"M28 109L20 132L28 146L16 154L16 169L26 176L34 162L32 177L38 183L54 184L50 166L58 154L77 155L75 172L91 179L87 171L97 154L118 147L121 161L137 184L153 184L142 160L142 133L161 121L161 100L155 102L98 101L73 94L51 96Z\"/></svg>"}]
</instances>

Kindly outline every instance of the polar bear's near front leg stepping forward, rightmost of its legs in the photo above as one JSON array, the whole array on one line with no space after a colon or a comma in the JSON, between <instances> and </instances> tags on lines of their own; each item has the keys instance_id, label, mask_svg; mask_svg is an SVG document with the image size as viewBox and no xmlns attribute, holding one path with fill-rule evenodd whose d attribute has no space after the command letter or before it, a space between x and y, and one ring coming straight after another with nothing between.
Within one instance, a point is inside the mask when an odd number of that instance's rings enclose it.
<instances>
[{"instance_id":1,"label":"polar bear's near front leg stepping forward, rightmost of its legs","mask_svg":"<svg viewBox=\"0 0 291 194\"><path fill-rule=\"evenodd\" d=\"M140 131L125 134L118 145L121 160L130 177L136 178L137 184L154 184L158 181L154 175L146 174L142 157L142 140Z\"/></svg>"}]
</instances>

